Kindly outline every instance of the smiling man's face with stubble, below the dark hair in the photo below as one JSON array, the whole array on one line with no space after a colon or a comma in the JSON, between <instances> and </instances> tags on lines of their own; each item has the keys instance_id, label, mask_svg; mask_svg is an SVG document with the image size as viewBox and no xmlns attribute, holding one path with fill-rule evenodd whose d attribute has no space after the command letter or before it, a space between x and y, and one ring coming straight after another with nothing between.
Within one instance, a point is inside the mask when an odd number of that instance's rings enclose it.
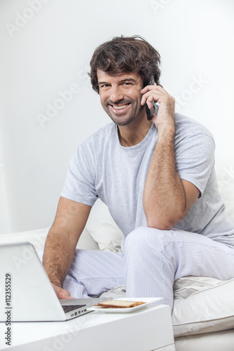
<instances>
[{"instance_id":1,"label":"smiling man's face with stubble, below the dark hair","mask_svg":"<svg viewBox=\"0 0 234 351\"><path fill-rule=\"evenodd\" d=\"M108 74L97 70L100 103L117 124L126 126L138 118L145 117L145 107L141 105L141 74Z\"/></svg>"}]
</instances>

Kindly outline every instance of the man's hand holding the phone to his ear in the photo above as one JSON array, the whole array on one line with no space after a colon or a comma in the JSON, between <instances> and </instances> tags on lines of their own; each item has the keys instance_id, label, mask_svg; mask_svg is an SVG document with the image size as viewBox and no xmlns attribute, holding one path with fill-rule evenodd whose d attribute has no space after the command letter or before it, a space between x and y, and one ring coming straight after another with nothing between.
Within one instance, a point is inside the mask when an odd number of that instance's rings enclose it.
<instances>
[{"instance_id":1,"label":"man's hand holding the phone to his ear","mask_svg":"<svg viewBox=\"0 0 234 351\"><path fill-rule=\"evenodd\" d=\"M160 131L164 128L175 130L175 99L162 88L157 86L156 83L145 86L141 90L143 94L141 99L141 105L148 105L149 110L153 107L153 102L159 102L160 107L157 111L157 116L152 113L152 122L155 124L157 129ZM147 109L147 107L146 107Z\"/></svg>"}]
</instances>

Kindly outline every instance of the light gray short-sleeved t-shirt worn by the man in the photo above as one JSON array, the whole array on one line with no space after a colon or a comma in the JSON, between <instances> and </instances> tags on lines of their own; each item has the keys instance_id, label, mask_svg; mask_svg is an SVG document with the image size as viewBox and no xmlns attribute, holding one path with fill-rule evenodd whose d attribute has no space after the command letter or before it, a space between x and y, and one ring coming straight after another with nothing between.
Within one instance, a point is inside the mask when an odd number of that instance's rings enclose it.
<instances>
[{"instance_id":1,"label":"light gray short-sleeved t-shirt worn by the man","mask_svg":"<svg viewBox=\"0 0 234 351\"><path fill-rule=\"evenodd\" d=\"M143 188L156 143L157 128L152 123L141 143L123 147L111 122L79 145L70 159L61 196L89 206L99 197L126 237L147 225ZM216 182L212 134L197 121L176 114L174 152L180 178L200 190L200 198L175 227L234 247L234 224L226 215Z\"/></svg>"}]
</instances>

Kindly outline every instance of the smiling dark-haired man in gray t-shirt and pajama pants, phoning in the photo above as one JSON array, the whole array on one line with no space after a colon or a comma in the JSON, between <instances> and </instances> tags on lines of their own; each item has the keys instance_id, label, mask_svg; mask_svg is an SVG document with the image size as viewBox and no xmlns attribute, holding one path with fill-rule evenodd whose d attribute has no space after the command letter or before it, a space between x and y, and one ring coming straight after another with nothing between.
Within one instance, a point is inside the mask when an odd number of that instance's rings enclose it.
<instances>
[{"instance_id":1,"label":"smiling dark-haired man in gray t-shirt and pajama pants, phoning","mask_svg":"<svg viewBox=\"0 0 234 351\"><path fill-rule=\"evenodd\" d=\"M43 263L59 298L126 284L126 296L162 296L172 309L175 279L234 277L234 225L217 190L214 140L175 114L159 66L141 37L117 37L93 53L91 84L112 122L72 157L46 239ZM154 100L148 121L145 102ZM98 197L124 234L122 253L75 250Z\"/></svg>"}]
</instances>

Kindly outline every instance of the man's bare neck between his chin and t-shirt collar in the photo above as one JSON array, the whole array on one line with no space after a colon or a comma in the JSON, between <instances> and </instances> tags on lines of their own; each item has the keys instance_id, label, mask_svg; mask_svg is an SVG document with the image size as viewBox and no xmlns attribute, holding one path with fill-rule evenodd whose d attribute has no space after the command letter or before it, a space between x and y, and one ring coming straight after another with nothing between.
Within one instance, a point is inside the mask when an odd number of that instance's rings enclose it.
<instances>
[{"instance_id":1,"label":"man's bare neck between his chin and t-shirt collar","mask_svg":"<svg viewBox=\"0 0 234 351\"><path fill-rule=\"evenodd\" d=\"M126 126L118 126L120 144L124 147L129 147L141 143L151 126L152 122L146 118L138 123L133 122Z\"/></svg>"}]
</instances>

